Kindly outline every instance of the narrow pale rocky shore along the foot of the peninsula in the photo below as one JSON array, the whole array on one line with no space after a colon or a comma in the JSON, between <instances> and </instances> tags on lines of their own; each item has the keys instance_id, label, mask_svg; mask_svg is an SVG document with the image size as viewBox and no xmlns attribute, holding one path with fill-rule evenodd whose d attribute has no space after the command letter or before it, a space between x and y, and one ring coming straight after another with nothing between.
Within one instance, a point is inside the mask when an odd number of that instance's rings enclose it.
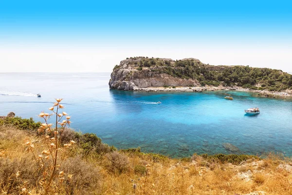
<instances>
[{"instance_id":1,"label":"narrow pale rocky shore along the foot of the peninsula","mask_svg":"<svg viewBox=\"0 0 292 195\"><path fill-rule=\"evenodd\" d=\"M202 91L217 91L217 90L232 90L232 91L244 91L244 92L254 92L258 93L262 96L269 96L269 97L275 97L275 96L282 96L282 97L292 97L292 93L288 92L271 92L267 90L252 90L252 89L246 89L242 87L147 87L147 88L137 88L134 89L134 91L146 91L146 92L202 92Z\"/></svg>"}]
</instances>

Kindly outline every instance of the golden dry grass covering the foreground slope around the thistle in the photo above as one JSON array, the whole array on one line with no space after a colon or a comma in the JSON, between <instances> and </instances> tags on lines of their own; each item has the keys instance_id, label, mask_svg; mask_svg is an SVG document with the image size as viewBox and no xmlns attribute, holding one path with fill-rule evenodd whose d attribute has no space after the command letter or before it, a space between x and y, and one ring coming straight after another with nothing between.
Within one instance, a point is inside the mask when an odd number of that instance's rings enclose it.
<instances>
[{"instance_id":1,"label":"golden dry grass covering the foreground slope around the thistle","mask_svg":"<svg viewBox=\"0 0 292 195\"><path fill-rule=\"evenodd\" d=\"M0 127L0 193L20 194L23 188L26 191L22 194L43 193L39 189L37 163L32 154L25 152L28 140L34 141L36 152L40 152L38 147L40 150L44 143L36 134L11 126ZM289 165L290 159L270 156L232 165L203 163L206 159L201 157L191 162L118 154L83 156L77 148L62 165L66 179L59 194L242 195L263 191L266 195L292 195L292 173L278 167ZM146 172L140 171L143 167ZM251 175L240 178L238 174L242 173Z\"/></svg>"}]
</instances>

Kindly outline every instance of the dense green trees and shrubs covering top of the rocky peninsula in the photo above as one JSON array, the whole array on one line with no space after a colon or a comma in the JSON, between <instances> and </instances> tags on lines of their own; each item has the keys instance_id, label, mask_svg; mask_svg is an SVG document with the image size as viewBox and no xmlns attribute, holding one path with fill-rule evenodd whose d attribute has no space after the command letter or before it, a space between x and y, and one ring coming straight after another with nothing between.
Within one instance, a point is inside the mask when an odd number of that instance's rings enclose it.
<instances>
[{"instance_id":1,"label":"dense green trees and shrubs covering top of the rocky peninsula","mask_svg":"<svg viewBox=\"0 0 292 195\"><path fill-rule=\"evenodd\" d=\"M129 64L154 72L166 73L178 78L192 78L201 85L240 86L243 88L283 91L292 89L292 75L270 68L252 68L249 66L213 66L204 64L198 59L159 59L134 57ZM116 66L115 68L117 68Z\"/></svg>"}]
</instances>

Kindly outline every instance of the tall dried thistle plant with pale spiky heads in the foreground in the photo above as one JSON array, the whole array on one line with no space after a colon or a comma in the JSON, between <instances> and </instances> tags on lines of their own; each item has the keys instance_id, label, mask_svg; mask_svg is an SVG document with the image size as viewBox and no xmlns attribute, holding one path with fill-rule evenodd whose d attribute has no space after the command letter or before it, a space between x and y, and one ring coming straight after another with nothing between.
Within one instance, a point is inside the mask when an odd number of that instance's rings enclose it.
<instances>
[{"instance_id":1,"label":"tall dried thistle plant with pale spiky heads in the foreground","mask_svg":"<svg viewBox=\"0 0 292 195\"><path fill-rule=\"evenodd\" d=\"M49 110L51 114L41 112L38 116L43 118L44 123L37 129L38 133L42 134L45 145L40 154L37 154L35 145L32 141L26 142L28 152L31 152L37 162L38 168L42 173L42 178L39 181L40 187L43 189L43 194L59 193L64 181L64 172L60 167L66 158L66 153L75 143L71 140L69 143L61 145L61 138L66 126L70 126L70 116L66 112L60 112L64 106L60 104L61 98L57 98L53 107ZM49 123L49 119L54 118L55 125ZM62 150L62 153L61 153ZM70 175L69 177L72 177ZM56 181L56 182L55 182Z\"/></svg>"}]
</instances>

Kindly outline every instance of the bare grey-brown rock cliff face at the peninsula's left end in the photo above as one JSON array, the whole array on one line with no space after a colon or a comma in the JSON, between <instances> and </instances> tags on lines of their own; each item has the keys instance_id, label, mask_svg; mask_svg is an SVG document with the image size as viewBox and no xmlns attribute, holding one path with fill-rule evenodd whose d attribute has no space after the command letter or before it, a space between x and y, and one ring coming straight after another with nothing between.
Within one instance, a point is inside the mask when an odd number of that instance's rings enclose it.
<instances>
[{"instance_id":1,"label":"bare grey-brown rock cliff face at the peninsula's left end","mask_svg":"<svg viewBox=\"0 0 292 195\"><path fill-rule=\"evenodd\" d=\"M165 74L162 67L143 67L139 69L141 59L125 59L116 66L110 76L110 88L118 90L137 90L147 87L162 86L197 86L198 80L177 78ZM159 59L162 61L173 61L172 59ZM198 60L198 59L197 59Z\"/></svg>"}]
</instances>

